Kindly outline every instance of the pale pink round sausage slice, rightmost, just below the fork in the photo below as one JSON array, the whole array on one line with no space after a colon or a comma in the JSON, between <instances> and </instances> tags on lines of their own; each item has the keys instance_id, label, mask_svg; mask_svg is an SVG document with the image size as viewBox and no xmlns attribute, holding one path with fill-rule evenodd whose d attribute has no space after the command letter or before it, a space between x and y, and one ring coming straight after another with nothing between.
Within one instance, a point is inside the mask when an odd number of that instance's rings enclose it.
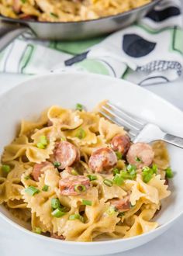
<instances>
[{"instance_id":1,"label":"pale pink round sausage slice, rightmost, just below the fork","mask_svg":"<svg viewBox=\"0 0 183 256\"><path fill-rule=\"evenodd\" d=\"M154 151L150 145L138 142L129 147L126 158L129 164L136 165L136 168L143 168L144 166L150 166L150 164L152 164Z\"/></svg>"}]
</instances>

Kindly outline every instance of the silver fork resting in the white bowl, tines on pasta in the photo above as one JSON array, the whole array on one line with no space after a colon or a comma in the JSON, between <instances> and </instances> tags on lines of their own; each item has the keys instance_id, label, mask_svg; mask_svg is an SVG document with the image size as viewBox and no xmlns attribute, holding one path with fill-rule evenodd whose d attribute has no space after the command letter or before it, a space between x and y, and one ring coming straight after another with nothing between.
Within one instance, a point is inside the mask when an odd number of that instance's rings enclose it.
<instances>
[{"instance_id":1,"label":"silver fork resting in the white bowl, tines on pasta","mask_svg":"<svg viewBox=\"0 0 183 256\"><path fill-rule=\"evenodd\" d=\"M102 116L105 116L105 118L112 121L112 123L123 126L134 143L150 143L155 140L164 140L176 147L183 148L183 138L165 133L159 126L153 123L147 123L142 119L119 109L119 107L113 105L111 102L106 102L99 112Z\"/></svg>"}]
</instances>

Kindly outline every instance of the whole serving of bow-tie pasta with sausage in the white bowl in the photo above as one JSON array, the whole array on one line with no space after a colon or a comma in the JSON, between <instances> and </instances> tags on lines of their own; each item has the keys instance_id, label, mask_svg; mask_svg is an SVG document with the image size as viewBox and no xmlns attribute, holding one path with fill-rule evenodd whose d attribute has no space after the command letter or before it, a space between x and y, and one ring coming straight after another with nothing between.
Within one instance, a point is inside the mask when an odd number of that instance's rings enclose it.
<instances>
[{"instance_id":1,"label":"whole serving of bow-tie pasta with sausage in the white bowl","mask_svg":"<svg viewBox=\"0 0 183 256\"><path fill-rule=\"evenodd\" d=\"M23 120L5 147L0 203L33 232L88 242L157 228L152 219L171 193L167 149L162 142L133 144L99 106L52 106L34 123Z\"/></svg>"}]
</instances>

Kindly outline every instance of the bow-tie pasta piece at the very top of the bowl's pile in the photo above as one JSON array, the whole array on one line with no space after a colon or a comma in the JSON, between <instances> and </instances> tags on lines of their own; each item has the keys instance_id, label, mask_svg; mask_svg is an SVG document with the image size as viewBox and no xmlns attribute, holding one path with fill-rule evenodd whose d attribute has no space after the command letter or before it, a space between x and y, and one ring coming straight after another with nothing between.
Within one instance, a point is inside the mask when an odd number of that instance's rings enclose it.
<instances>
[{"instance_id":1,"label":"bow-tie pasta piece at the very top of the bowl's pile","mask_svg":"<svg viewBox=\"0 0 183 256\"><path fill-rule=\"evenodd\" d=\"M52 106L48 110L47 116L54 126L58 126L60 130L73 130L83 123L78 112L71 109L62 109L59 106Z\"/></svg>"}]
</instances>

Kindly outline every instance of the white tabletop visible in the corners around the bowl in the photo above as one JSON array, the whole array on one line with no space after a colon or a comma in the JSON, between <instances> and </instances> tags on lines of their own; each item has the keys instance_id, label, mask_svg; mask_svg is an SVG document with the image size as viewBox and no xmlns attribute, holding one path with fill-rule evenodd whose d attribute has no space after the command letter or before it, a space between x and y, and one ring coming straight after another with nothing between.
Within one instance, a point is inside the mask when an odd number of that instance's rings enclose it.
<instances>
[{"instance_id":1,"label":"white tabletop visible in the corners around the bowl","mask_svg":"<svg viewBox=\"0 0 183 256\"><path fill-rule=\"evenodd\" d=\"M19 81L25 80L26 77L19 75L7 75L0 74L0 92L5 92L7 88L11 88L17 84ZM183 87L181 85L182 81L177 81L173 84L168 85L154 85L150 86L151 91L156 92L158 95L163 96L165 99L168 99L174 105L183 109ZM19 98L19 95L17 95ZM183 244L182 244L182 227L183 227L183 217L178 220L178 223L175 223L170 230L167 230L167 233L163 234L161 237L151 241L150 243L138 247L131 251L120 253L118 255L147 255L153 256L154 254L159 256L175 256L182 255ZM40 244L40 240L30 240L29 236L23 234L21 231L16 230L14 227L10 226L5 221L0 219L0 255L1 256L12 256L12 255L40 255L45 256L50 255L60 255L56 251L49 250L43 247ZM61 254L64 256L64 254Z\"/></svg>"}]
</instances>

